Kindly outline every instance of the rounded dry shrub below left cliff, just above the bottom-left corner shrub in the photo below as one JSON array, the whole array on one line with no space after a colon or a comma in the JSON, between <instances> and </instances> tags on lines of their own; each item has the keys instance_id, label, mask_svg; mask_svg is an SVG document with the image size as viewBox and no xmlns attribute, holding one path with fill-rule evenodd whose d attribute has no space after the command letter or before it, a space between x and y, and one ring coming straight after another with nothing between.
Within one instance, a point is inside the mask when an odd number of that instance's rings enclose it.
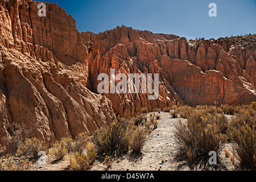
<instances>
[{"instance_id":1,"label":"rounded dry shrub below left cliff, just above the bottom-left corner shrub","mask_svg":"<svg viewBox=\"0 0 256 182\"><path fill-rule=\"evenodd\" d=\"M38 138L27 138L24 144L18 148L16 155L27 155L38 159L40 157L38 152L40 151L47 151L46 143Z\"/></svg>"}]
</instances>

